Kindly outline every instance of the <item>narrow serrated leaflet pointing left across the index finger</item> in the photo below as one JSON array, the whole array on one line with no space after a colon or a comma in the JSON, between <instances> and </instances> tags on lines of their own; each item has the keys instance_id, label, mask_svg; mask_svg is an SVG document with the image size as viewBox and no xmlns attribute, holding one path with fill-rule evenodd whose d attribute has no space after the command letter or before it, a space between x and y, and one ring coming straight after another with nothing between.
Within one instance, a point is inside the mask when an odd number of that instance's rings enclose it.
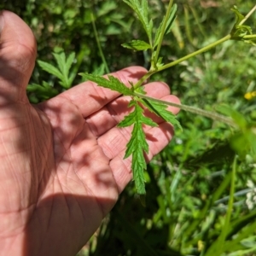
<instances>
[{"instance_id":1,"label":"narrow serrated leaflet pointing left across the index finger","mask_svg":"<svg viewBox=\"0 0 256 256\"><path fill-rule=\"evenodd\" d=\"M105 79L101 76L95 75L95 74L89 74L89 73L79 73L84 79L88 79L92 82L95 82L99 86L102 86L104 88L108 88L110 90L118 91L120 94L123 94L125 96L132 96L132 91L128 87L125 86L125 84L121 83L119 79L116 79L115 77L108 75L108 79Z\"/></svg>"}]
</instances>

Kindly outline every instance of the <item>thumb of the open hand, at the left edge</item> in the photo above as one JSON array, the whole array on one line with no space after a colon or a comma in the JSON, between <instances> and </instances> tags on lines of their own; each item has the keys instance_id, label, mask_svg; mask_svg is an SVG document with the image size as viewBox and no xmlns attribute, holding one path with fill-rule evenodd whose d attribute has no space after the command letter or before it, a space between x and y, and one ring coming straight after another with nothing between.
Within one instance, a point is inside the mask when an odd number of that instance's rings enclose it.
<instances>
[{"instance_id":1,"label":"thumb of the open hand, at the left edge","mask_svg":"<svg viewBox=\"0 0 256 256\"><path fill-rule=\"evenodd\" d=\"M0 14L0 106L27 102L28 83L36 59L36 41L31 29L17 15Z\"/></svg>"}]
</instances>

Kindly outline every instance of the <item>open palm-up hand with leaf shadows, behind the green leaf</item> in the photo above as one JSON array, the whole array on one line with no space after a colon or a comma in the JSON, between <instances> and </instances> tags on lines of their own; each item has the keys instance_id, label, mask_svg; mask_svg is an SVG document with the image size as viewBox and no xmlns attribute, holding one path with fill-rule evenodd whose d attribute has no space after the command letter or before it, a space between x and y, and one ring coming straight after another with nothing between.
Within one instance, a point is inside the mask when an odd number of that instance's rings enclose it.
<instances>
[{"instance_id":1,"label":"open palm-up hand with leaf shadows, behind the green leaf","mask_svg":"<svg viewBox=\"0 0 256 256\"><path fill-rule=\"evenodd\" d=\"M32 106L26 85L35 38L13 13L4 11L0 21L0 255L72 256L131 181L131 159L123 160L131 128L115 126L129 98L86 82ZM113 75L128 84L145 72L127 67ZM179 103L164 83L145 88ZM145 127L147 160L173 135L172 125L154 121L158 127Z\"/></svg>"}]
</instances>

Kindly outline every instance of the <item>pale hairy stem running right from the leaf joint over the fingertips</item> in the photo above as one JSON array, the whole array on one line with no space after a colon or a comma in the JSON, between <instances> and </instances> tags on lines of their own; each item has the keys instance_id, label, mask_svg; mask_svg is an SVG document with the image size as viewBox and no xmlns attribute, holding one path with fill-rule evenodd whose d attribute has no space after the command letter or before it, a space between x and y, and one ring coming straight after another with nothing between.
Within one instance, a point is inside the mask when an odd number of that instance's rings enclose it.
<instances>
[{"instance_id":1,"label":"pale hairy stem running right from the leaf joint over the fingertips","mask_svg":"<svg viewBox=\"0 0 256 256\"><path fill-rule=\"evenodd\" d=\"M177 103L173 103L173 102L162 101L162 100L159 100L159 99L155 99L155 98L143 95L143 94L138 93L138 92L134 92L134 95L138 96L140 98L146 99L146 100L150 100L150 101L154 101L154 102L160 102L160 103L166 104L168 106L180 108L180 109L183 109L185 111L189 111L190 113L200 114L200 115L205 116L207 118L223 122L226 125L237 127L232 119L230 119L229 117L226 117L222 114L219 114L219 113L209 112L209 111L201 109L201 108L195 108L195 107L191 107L191 106L187 106L187 105L183 105L183 104L177 104Z\"/></svg>"}]
</instances>

